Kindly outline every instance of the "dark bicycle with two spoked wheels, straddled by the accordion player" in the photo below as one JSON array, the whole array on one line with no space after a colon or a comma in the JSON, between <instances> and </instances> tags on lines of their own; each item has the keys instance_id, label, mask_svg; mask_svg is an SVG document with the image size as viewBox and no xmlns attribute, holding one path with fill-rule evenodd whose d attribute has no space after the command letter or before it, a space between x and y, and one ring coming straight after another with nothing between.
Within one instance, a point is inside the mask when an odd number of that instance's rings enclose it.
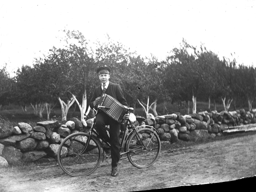
<instances>
[{"instance_id":1,"label":"dark bicycle with two spoked wheels, straddled by the accordion player","mask_svg":"<svg viewBox=\"0 0 256 192\"><path fill-rule=\"evenodd\" d=\"M132 112L133 108L130 107L129 116ZM128 123L132 127L130 132ZM104 158L111 157L105 155L103 144L94 129L94 124L95 117L89 133L73 133L61 142L58 150L58 163L66 174L73 177L88 176L98 168L100 161L103 162ZM157 130L149 125L141 125L135 128L128 118L120 144L120 159L126 154L129 162L137 168L151 166L161 150L158 135ZM110 147L107 141L101 140L107 147Z\"/></svg>"}]
</instances>

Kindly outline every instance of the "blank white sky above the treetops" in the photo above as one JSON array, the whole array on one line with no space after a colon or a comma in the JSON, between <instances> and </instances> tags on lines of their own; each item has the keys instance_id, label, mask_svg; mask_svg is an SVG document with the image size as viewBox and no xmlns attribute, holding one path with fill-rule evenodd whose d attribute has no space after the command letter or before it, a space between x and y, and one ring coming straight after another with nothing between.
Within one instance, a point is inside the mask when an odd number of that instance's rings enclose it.
<instances>
[{"instance_id":1,"label":"blank white sky above the treetops","mask_svg":"<svg viewBox=\"0 0 256 192\"><path fill-rule=\"evenodd\" d=\"M95 42L108 33L141 56L165 59L182 38L190 45L256 67L256 1L12 1L0 0L0 67L32 65L60 30ZM234 54L233 54L234 55Z\"/></svg>"}]
</instances>

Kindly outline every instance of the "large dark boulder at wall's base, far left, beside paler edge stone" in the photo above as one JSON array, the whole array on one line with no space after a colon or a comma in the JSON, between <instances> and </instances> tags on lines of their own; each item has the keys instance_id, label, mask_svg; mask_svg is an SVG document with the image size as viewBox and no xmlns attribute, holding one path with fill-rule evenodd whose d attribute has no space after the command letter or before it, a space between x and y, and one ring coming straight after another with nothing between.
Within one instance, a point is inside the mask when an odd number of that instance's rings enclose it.
<instances>
[{"instance_id":1,"label":"large dark boulder at wall's base, far left, beside paler edge stone","mask_svg":"<svg viewBox=\"0 0 256 192\"><path fill-rule=\"evenodd\" d=\"M4 147L2 156L4 157L4 159L6 159L6 161L8 162L8 164L10 165L16 165L16 164L20 164L22 162L21 158L22 158L22 152L20 152L19 149L16 149L12 146L8 146L8 147Z\"/></svg>"}]
</instances>

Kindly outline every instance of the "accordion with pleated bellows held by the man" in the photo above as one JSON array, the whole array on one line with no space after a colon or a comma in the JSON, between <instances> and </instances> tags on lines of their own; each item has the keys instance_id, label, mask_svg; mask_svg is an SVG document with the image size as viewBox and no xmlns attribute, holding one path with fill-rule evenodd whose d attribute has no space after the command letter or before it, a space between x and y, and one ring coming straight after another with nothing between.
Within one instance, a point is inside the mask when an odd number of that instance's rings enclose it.
<instances>
[{"instance_id":1,"label":"accordion with pleated bellows held by the man","mask_svg":"<svg viewBox=\"0 0 256 192\"><path fill-rule=\"evenodd\" d=\"M124 121L124 114L129 112L129 108L122 105L118 100L110 95L102 93L99 103L97 105L98 110L104 111L115 121L122 123Z\"/></svg>"}]
</instances>

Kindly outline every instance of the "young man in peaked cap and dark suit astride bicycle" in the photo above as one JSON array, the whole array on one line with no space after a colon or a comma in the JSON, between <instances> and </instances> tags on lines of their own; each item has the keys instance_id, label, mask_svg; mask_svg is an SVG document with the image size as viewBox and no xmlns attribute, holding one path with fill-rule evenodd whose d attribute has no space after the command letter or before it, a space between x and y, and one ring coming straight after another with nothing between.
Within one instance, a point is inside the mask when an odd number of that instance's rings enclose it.
<instances>
[{"instance_id":1,"label":"young man in peaked cap and dark suit astride bicycle","mask_svg":"<svg viewBox=\"0 0 256 192\"><path fill-rule=\"evenodd\" d=\"M100 96L103 92L114 97L121 104L128 107L126 100L124 99L123 91L119 84L114 84L108 81L110 78L110 68L107 66L102 66L97 69L97 74L100 78L101 85L95 88L92 99L90 101L90 107L95 108L100 100ZM124 119L128 119L129 114L124 115ZM109 137L107 131L105 130L105 125L109 125ZM95 128L99 133L99 136L103 138L105 141L110 143L110 151L111 151L111 166L112 172L111 176L117 176L117 164L120 159L119 153L119 131L121 124L117 121L110 118L105 112L99 111L96 114L95 118Z\"/></svg>"}]
</instances>

